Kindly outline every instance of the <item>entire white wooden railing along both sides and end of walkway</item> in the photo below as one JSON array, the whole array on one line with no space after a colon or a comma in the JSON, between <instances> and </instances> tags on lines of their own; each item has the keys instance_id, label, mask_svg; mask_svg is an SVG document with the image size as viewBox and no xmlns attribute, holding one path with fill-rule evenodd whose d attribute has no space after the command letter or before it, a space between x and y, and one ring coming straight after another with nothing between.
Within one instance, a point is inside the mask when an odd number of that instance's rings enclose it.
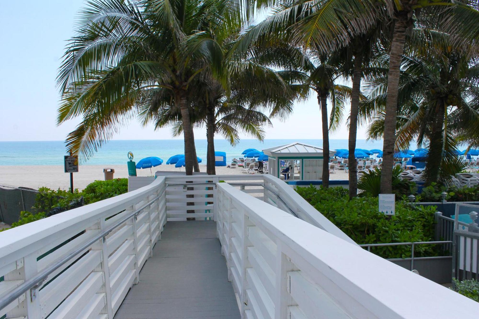
<instances>
[{"instance_id":1,"label":"entire white wooden railing along both sides and end of walkway","mask_svg":"<svg viewBox=\"0 0 479 319\"><path fill-rule=\"evenodd\" d=\"M284 182L258 174L162 176L0 232L0 317L113 318L167 221L190 217L217 221L243 318L469 318L478 311L359 248Z\"/></svg>"}]
</instances>

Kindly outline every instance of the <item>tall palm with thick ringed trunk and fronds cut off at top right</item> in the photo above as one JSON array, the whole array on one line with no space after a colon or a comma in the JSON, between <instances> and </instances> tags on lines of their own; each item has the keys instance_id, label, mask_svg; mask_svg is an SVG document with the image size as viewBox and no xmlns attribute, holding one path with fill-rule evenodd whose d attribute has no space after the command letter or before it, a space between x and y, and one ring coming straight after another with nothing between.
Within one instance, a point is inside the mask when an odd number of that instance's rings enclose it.
<instances>
[{"instance_id":1,"label":"tall palm with thick ringed trunk and fronds cut off at top right","mask_svg":"<svg viewBox=\"0 0 479 319\"><path fill-rule=\"evenodd\" d=\"M393 24L389 47L388 99L385 110L384 161L381 192L392 192L392 164L396 140L399 71L406 33L414 23L441 21L443 30L467 35L479 34L479 11L472 0L256 0L249 9L275 6L274 15L260 23L251 39L265 33L292 28L293 39L301 46L328 53L351 45L351 38L367 32L378 20ZM421 9L421 10L418 10ZM293 23L291 23L293 21Z\"/></svg>"}]
</instances>

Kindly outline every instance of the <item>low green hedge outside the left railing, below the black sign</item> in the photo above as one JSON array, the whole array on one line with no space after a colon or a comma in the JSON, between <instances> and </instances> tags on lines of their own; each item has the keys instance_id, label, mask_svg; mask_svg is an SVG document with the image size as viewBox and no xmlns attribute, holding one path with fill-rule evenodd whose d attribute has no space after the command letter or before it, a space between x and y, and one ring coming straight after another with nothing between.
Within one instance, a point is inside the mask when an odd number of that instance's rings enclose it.
<instances>
[{"instance_id":1,"label":"low green hedge outside the left railing, below the black sign","mask_svg":"<svg viewBox=\"0 0 479 319\"><path fill-rule=\"evenodd\" d=\"M41 187L35 198L35 204L32 207L33 212L22 211L18 222L12 223L11 228L31 223L35 220L46 217L51 210L60 207L68 209L71 203L78 202L83 197L84 204L91 204L110 198L128 191L128 179L117 178L109 181L94 181L81 192L75 189L73 193L64 190L52 190L47 187ZM5 228L7 230L10 228Z\"/></svg>"}]
</instances>

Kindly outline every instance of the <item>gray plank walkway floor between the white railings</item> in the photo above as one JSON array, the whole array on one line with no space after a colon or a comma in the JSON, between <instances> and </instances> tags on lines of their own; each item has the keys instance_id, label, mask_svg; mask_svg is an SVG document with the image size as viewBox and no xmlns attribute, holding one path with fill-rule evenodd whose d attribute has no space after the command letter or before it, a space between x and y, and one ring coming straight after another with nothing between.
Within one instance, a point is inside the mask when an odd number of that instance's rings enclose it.
<instances>
[{"instance_id":1,"label":"gray plank walkway floor between the white railings","mask_svg":"<svg viewBox=\"0 0 479 319\"><path fill-rule=\"evenodd\" d=\"M168 222L115 319L238 318L214 221Z\"/></svg>"}]
</instances>

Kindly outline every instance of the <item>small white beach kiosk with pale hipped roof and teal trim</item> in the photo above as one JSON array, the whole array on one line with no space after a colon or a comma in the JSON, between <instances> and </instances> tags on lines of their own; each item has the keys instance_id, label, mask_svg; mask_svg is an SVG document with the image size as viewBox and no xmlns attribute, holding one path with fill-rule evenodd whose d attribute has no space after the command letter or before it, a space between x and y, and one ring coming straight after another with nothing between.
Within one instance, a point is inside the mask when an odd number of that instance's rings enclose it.
<instances>
[{"instance_id":1,"label":"small white beach kiosk with pale hipped roof and teal trim","mask_svg":"<svg viewBox=\"0 0 479 319\"><path fill-rule=\"evenodd\" d=\"M304 143L291 143L274 148L263 149L268 155L268 173L282 180L315 181L320 180L323 173L323 149ZM331 150L326 160L333 156ZM282 173L282 171L289 171Z\"/></svg>"}]
</instances>

